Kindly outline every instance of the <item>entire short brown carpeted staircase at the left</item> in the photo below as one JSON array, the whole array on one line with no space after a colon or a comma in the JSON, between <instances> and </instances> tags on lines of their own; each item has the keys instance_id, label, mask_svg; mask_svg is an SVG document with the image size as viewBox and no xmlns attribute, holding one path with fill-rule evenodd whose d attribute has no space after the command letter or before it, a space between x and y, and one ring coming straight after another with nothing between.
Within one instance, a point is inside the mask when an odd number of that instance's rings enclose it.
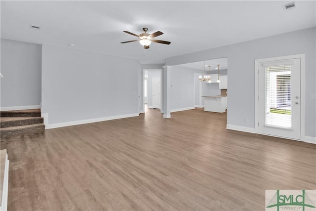
<instances>
[{"instance_id":1,"label":"entire short brown carpeted staircase at the left","mask_svg":"<svg viewBox=\"0 0 316 211\"><path fill-rule=\"evenodd\" d=\"M42 133L45 130L40 109L1 111L0 136L1 138L21 134Z\"/></svg>"}]
</instances>

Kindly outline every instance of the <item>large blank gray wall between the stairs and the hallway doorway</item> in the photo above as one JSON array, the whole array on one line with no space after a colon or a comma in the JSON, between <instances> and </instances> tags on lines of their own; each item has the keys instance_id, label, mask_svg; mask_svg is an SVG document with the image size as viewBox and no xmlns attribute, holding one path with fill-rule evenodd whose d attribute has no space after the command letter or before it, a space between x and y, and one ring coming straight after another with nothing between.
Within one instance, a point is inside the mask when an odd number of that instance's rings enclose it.
<instances>
[{"instance_id":1,"label":"large blank gray wall between the stairs and the hallway doorway","mask_svg":"<svg viewBox=\"0 0 316 211\"><path fill-rule=\"evenodd\" d=\"M65 123L139 113L138 61L42 46L42 113Z\"/></svg>"}]
</instances>

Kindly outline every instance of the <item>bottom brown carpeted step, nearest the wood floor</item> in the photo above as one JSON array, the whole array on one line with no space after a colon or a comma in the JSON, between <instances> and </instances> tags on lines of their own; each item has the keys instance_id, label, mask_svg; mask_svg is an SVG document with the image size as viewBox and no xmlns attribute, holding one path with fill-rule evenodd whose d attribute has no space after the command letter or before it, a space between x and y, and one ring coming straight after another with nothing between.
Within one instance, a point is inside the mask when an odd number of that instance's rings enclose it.
<instances>
[{"instance_id":1,"label":"bottom brown carpeted step, nearest the wood floor","mask_svg":"<svg viewBox=\"0 0 316 211\"><path fill-rule=\"evenodd\" d=\"M16 126L16 127L3 127L0 128L1 138L8 136L21 135L21 134L33 134L33 133L42 133L45 130L45 125L43 123L36 125L27 125L27 126Z\"/></svg>"}]
</instances>

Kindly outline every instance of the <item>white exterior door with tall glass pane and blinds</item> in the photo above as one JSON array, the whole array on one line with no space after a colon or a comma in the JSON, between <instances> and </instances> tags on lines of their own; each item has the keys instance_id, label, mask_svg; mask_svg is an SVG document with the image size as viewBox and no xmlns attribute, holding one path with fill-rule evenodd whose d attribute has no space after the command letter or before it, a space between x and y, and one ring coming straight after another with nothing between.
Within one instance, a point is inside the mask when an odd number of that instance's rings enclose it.
<instances>
[{"instance_id":1,"label":"white exterior door with tall glass pane and blinds","mask_svg":"<svg viewBox=\"0 0 316 211\"><path fill-rule=\"evenodd\" d=\"M259 63L259 133L300 139L300 67L299 58Z\"/></svg>"}]
</instances>

